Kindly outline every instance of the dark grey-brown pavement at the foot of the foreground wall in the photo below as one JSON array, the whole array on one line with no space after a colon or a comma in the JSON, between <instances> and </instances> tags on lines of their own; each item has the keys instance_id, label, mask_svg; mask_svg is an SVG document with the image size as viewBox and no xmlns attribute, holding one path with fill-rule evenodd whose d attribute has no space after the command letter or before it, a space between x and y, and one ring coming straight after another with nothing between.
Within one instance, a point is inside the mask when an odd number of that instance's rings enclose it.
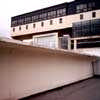
<instances>
[{"instance_id":1,"label":"dark grey-brown pavement at the foot of the foreground wall","mask_svg":"<svg viewBox=\"0 0 100 100\"><path fill-rule=\"evenodd\" d=\"M100 100L100 77L93 77L20 100Z\"/></svg>"}]
</instances>

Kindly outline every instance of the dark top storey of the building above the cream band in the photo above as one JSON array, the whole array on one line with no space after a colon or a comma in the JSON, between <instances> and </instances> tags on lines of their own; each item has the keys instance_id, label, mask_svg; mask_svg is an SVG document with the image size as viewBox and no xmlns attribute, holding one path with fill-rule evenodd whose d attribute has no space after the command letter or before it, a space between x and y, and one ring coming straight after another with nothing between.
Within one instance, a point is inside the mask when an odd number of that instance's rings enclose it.
<instances>
[{"instance_id":1,"label":"dark top storey of the building above the cream band","mask_svg":"<svg viewBox=\"0 0 100 100\"><path fill-rule=\"evenodd\" d=\"M11 18L11 27L100 9L99 0L76 0Z\"/></svg>"}]
</instances>

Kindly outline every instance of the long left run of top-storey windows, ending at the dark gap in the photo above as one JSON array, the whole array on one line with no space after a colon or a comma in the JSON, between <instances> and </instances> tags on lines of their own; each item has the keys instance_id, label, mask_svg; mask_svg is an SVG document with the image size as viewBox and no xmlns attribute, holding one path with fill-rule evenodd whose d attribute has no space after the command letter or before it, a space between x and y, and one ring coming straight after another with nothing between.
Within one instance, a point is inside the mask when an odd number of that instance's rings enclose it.
<instances>
[{"instance_id":1,"label":"long left run of top-storey windows, ending at the dark gap","mask_svg":"<svg viewBox=\"0 0 100 100\"><path fill-rule=\"evenodd\" d=\"M12 27L66 15L66 8L12 21Z\"/></svg>"}]
</instances>

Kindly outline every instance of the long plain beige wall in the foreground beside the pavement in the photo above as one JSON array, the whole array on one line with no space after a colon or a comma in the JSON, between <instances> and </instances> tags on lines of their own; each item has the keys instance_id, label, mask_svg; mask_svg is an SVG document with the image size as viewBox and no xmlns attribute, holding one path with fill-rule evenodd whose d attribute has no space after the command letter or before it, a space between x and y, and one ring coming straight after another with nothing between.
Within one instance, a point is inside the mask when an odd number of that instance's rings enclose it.
<instances>
[{"instance_id":1,"label":"long plain beige wall in the foreground beside the pavement","mask_svg":"<svg viewBox=\"0 0 100 100\"><path fill-rule=\"evenodd\" d=\"M0 44L0 100L16 100L91 77L91 60L56 50Z\"/></svg>"}]
</instances>

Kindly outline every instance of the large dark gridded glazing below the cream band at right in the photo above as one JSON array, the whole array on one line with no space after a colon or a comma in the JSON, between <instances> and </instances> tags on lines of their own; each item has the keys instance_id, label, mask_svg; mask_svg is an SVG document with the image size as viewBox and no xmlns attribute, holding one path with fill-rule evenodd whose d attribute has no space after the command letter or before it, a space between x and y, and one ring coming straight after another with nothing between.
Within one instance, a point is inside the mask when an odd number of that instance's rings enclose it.
<instances>
[{"instance_id":1,"label":"large dark gridded glazing below the cream band at right","mask_svg":"<svg viewBox=\"0 0 100 100\"><path fill-rule=\"evenodd\" d=\"M100 33L100 19L74 23L73 33L75 37L98 35Z\"/></svg>"}]
</instances>

